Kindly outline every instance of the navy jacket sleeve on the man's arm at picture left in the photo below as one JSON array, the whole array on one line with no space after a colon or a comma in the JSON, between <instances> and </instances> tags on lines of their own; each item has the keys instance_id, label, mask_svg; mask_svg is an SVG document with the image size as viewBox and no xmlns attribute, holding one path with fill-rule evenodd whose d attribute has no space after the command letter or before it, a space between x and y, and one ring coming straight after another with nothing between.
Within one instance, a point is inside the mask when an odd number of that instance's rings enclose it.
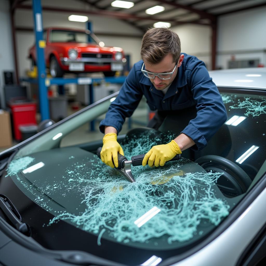
<instances>
[{"instance_id":1,"label":"navy jacket sleeve on the man's arm at picture left","mask_svg":"<svg viewBox=\"0 0 266 266\"><path fill-rule=\"evenodd\" d=\"M120 132L126 117L131 117L142 95L143 92L136 78L134 65L123 83L117 98L111 103L105 119L101 121L99 125L100 131L104 133L105 126L112 126L116 128L117 132Z\"/></svg>"}]
</instances>

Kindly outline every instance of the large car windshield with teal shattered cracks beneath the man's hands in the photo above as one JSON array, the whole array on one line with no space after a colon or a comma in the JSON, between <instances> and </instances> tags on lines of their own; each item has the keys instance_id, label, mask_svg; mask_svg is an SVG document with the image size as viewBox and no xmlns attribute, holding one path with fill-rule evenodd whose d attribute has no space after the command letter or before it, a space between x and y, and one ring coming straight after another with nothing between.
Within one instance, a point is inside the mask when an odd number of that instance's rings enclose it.
<instances>
[{"instance_id":1,"label":"large car windshield with teal shattered cracks beneath the man's hands","mask_svg":"<svg viewBox=\"0 0 266 266\"><path fill-rule=\"evenodd\" d=\"M131 167L134 183L95 155L102 134L96 132L99 142L88 138L61 146L73 131L81 132L83 125L104 114L112 97L21 148L7 176L52 215L41 219L41 231L52 230L63 220L89 233L86 241L93 243L95 254L102 245L112 250L113 255L101 253L102 257L130 265L154 254L166 259L204 239L266 172L266 97L226 90L221 95L228 120L208 146L199 152L184 151L182 160L162 168ZM143 111L147 114L147 107ZM160 131L135 129L121 138L127 159L171 141L178 132L171 119L165 120ZM232 178L234 182L228 185ZM142 255L135 257L131 248ZM127 259L116 256L124 249Z\"/></svg>"}]
</instances>

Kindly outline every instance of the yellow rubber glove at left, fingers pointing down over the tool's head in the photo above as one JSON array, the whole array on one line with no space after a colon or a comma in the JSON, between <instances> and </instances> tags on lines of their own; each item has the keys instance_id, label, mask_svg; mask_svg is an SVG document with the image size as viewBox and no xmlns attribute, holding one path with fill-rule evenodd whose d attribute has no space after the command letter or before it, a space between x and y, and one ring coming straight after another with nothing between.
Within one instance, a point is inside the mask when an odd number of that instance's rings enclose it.
<instances>
[{"instance_id":1,"label":"yellow rubber glove at left, fingers pointing down over the tool's head","mask_svg":"<svg viewBox=\"0 0 266 266\"><path fill-rule=\"evenodd\" d=\"M120 144L117 142L117 134L115 133L107 133L104 135L102 139L102 151L101 151L101 159L103 163L109 165L114 168L114 164L112 161L112 157L115 163L115 167L118 167L118 157L117 153L124 155L123 149Z\"/></svg>"}]
</instances>

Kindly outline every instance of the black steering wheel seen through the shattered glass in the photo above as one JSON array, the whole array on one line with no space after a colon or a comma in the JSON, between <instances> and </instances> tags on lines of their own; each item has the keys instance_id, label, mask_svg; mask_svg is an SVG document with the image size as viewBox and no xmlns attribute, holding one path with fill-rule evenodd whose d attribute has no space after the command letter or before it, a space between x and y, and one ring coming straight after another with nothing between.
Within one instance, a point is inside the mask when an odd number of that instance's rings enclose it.
<instances>
[{"instance_id":1,"label":"black steering wheel seen through the shattered glass","mask_svg":"<svg viewBox=\"0 0 266 266\"><path fill-rule=\"evenodd\" d=\"M243 194L252 182L242 168L224 157L205 155L198 158L195 163L206 172L223 172L223 175L218 178L217 186L226 196L235 197Z\"/></svg>"}]
</instances>

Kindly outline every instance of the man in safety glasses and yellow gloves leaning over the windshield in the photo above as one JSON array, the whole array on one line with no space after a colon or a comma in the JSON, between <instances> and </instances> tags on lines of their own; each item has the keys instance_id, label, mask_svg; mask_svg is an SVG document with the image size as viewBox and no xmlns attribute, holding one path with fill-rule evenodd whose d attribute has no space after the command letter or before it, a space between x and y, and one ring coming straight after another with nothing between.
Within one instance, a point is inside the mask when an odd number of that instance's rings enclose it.
<instances>
[{"instance_id":1,"label":"man in safety glasses and yellow gloves leaning over the windshield","mask_svg":"<svg viewBox=\"0 0 266 266\"><path fill-rule=\"evenodd\" d=\"M195 56L181 54L178 35L168 28L151 28L142 39L142 60L134 64L100 123L103 137L102 161L118 167L117 153L124 155L117 142L117 134L126 117L130 117L144 95L151 110L157 110L148 124L158 128L169 112L182 116L193 108L196 117L168 144L153 146L145 155L142 165L163 166L185 149L197 151L226 121L227 115L221 95L213 83L205 64ZM181 111L180 111L181 110ZM113 161L114 164L113 164Z\"/></svg>"}]
</instances>

